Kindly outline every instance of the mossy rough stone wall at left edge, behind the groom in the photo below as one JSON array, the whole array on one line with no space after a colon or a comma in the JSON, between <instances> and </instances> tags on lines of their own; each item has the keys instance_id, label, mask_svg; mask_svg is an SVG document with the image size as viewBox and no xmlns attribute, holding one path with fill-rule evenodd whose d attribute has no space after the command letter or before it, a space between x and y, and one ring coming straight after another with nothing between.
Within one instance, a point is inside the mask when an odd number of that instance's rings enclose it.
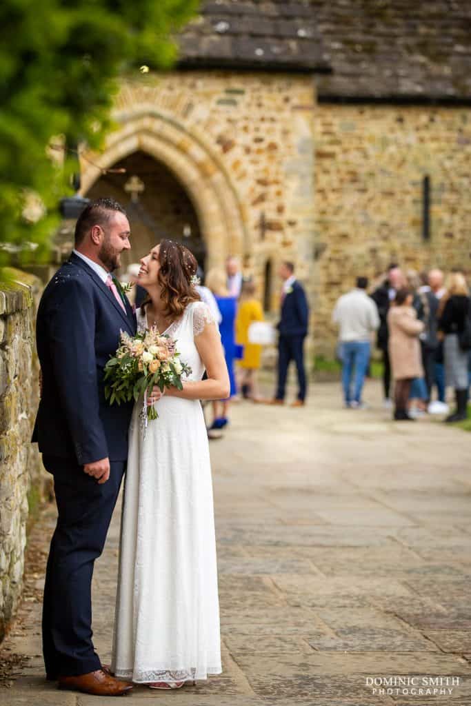
<instances>
[{"instance_id":1,"label":"mossy rough stone wall at left edge, behind the groom","mask_svg":"<svg viewBox=\"0 0 471 706\"><path fill-rule=\"evenodd\" d=\"M0 640L23 582L28 517L44 492L44 469L30 443L39 398L35 301L40 282L18 270L0 284Z\"/></svg>"}]
</instances>

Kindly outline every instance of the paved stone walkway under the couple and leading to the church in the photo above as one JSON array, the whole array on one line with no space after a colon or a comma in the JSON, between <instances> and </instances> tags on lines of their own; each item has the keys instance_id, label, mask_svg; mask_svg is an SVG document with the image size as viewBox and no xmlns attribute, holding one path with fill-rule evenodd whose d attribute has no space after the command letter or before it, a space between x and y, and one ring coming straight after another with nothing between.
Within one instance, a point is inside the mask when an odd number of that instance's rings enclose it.
<instances>
[{"instance_id":1,"label":"paved stone walkway under the couple and leading to the church","mask_svg":"<svg viewBox=\"0 0 471 706\"><path fill-rule=\"evenodd\" d=\"M304 409L234 405L211 445L224 673L179 692L136 688L126 704L471 705L471 436L438 421L393 424L342 409L319 384ZM54 512L35 530L46 548ZM94 586L95 644L112 638L119 513ZM6 706L90 706L45 683L40 572L6 642L28 657ZM422 695L372 693L371 678L428 678ZM433 689L458 686L445 695ZM427 693L427 689L432 690ZM101 699L100 704L114 703Z\"/></svg>"}]
</instances>

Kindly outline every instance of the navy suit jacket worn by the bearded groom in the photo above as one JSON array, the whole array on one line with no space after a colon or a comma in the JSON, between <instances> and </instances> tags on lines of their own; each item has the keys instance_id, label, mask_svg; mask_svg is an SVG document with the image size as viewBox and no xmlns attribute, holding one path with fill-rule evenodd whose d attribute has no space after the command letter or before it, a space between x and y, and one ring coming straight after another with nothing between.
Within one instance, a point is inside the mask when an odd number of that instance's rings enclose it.
<instances>
[{"instance_id":1,"label":"navy suit jacket worn by the bearded groom","mask_svg":"<svg viewBox=\"0 0 471 706\"><path fill-rule=\"evenodd\" d=\"M110 406L103 383L121 330L136 333L136 317L124 299L126 313L74 253L44 289L36 326L42 396L32 436L43 454L78 465L126 460L133 405Z\"/></svg>"}]
</instances>

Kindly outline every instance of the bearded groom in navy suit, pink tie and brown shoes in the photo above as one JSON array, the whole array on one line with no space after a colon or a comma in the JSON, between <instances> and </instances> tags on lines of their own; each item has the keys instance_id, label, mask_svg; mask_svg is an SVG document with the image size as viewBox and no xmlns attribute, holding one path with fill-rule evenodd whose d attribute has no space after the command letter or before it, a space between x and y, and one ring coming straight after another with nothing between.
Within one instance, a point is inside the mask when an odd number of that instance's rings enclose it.
<instances>
[{"instance_id":1,"label":"bearded groom in navy suit, pink tie and brown shoes","mask_svg":"<svg viewBox=\"0 0 471 706\"><path fill-rule=\"evenodd\" d=\"M37 352L42 395L32 441L54 476L58 519L47 561L42 641L59 688L117 696L132 685L103 671L92 642L91 582L128 455L132 404L110 407L103 369L136 320L113 270L131 248L124 209L110 198L78 218L75 249L42 295Z\"/></svg>"}]
</instances>

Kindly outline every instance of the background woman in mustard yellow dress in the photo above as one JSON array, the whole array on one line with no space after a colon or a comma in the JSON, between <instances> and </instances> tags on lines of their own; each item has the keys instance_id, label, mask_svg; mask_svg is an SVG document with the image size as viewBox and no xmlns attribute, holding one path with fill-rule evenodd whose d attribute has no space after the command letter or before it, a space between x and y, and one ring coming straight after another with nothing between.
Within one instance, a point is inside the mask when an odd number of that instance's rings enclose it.
<instances>
[{"instance_id":1,"label":"background woman in mustard yellow dress","mask_svg":"<svg viewBox=\"0 0 471 706\"><path fill-rule=\"evenodd\" d=\"M263 321L263 309L255 298L254 282L244 282L239 299L239 309L236 318L236 342L244 347L244 357L239 361L239 389L243 397L257 402L258 395L257 371L260 368L262 347L249 343L249 327L254 321Z\"/></svg>"}]
</instances>

